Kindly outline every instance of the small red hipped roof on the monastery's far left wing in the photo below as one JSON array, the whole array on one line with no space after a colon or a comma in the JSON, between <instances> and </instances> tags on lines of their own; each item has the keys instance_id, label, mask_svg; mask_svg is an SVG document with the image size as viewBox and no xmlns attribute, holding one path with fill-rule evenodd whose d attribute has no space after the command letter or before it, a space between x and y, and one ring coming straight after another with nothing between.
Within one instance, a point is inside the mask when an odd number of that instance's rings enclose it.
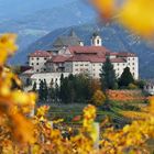
<instances>
[{"instance_id":1,"label":"small red hipped roof on the monastery's far left wing","mask_svg":"<svg viewBox=\"0 0 154 154\"><path fill-rule=\"evenodd\" d=\"M45 51L35 51L34 53L30 54L30 57L51 57L52 54Z\"/></svg>"}]
</instances>

